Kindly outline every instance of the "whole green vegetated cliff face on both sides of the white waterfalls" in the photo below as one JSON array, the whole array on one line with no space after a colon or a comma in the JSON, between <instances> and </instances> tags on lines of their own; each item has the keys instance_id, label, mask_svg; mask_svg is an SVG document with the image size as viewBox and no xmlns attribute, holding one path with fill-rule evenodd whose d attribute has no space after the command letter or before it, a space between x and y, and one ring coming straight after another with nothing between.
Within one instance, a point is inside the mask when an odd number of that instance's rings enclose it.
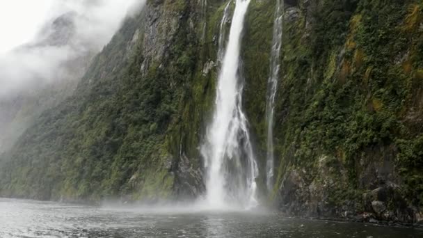
<instances>
[{"instance_id":1,"label":"whole green vegetated cliff face on both sides of the white waterfalls","mask_svg":"<svg viewBox=\"0 0 423 238\"><path fill-rule=\"evenodd\" d=\"M72 97L45 111L4 156L0 194L200 196L198 146L212 115L226 4L147 1ZM241 51L262 200L301 216L421 221L423 4L284 1L276 181L268 192L264 118L275 7L251 1Z\"/></svg>"}]
</instances>

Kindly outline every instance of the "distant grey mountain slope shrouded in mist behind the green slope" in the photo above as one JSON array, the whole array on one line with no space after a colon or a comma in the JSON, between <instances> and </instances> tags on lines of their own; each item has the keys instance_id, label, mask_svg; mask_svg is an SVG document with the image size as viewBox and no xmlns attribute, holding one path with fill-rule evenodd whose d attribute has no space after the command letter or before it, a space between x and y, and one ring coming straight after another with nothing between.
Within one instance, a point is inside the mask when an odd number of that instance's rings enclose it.
<instances>
[{"instance_id":1,"label":"distant grey mountain slope shrouded in mist behind the green slope","mask_svg":"<svg viewBox=\"0 0 423 238\"><path fill-rule=\"evenodd\" d=\"M1 58L0 69L12 72L1 73L1 77L6 78L1 79L5 87L0 92L0 153L10 148L42 111L57 106L72 95L88 68L96 47L84 44L86 42L77 42L75 17L75 13L57 17L44 26L33 42L22 45ZM83 49L74 49L81 48L81 45L84 45ZM63 56L56 56L57 54ZM66 54L70 58L62 60ZM49 64L49 57L53 57L52 61L59 58L59 63L53 63L54 67L49 70L51 72L38 71L38 66L42 68ZM18 66L19 69L15 69L14 61L21 60L24 62L17 62L20 68ZM33 65L38 66L29 68L26 65L29 60L41 62L35 62ZM13 72L14 70L19 72ZM23 82L22 85L15 82L11 84L17 84L16 86L8 86L12 80Z\"/></svg>"}]
</instances>

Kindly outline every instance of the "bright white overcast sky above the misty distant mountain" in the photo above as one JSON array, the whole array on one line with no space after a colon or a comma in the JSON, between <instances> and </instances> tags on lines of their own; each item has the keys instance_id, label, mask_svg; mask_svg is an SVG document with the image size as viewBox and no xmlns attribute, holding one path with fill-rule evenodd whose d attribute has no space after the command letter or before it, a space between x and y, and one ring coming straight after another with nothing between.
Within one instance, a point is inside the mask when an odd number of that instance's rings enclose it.
<instances>
[{"instance_id":1,"label":"bright white overcast sky above the misty distant mountain","mask_svg":"<svg viewBox=\"0 0 423 238\"><path fill-rule=\"evenodd\" d=\"M66 11L82 14L85 11L103 27L113 29L122 15L134 8L134 3L143 2L145 0L0 0L0 54L30 42L47 20Z\"/></svg>"}]
</instances>

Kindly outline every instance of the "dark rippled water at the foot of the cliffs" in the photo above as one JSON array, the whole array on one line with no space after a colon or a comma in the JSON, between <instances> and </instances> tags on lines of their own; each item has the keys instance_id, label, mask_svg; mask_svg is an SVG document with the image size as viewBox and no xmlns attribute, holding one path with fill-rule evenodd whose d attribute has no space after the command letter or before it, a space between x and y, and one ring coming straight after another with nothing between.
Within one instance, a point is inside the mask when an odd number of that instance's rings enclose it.
<instances>
[{"instance_id":1,"label":"dark rippled water at the foot of the cliffs","mask_svg":"<svg viewBox=\"0 0 423 238\"><path fill-rule=\"evenodd\" d=\"M0 237L423 237L411 228L193 210L0 199Z\"/></svg>"}]
</instances>

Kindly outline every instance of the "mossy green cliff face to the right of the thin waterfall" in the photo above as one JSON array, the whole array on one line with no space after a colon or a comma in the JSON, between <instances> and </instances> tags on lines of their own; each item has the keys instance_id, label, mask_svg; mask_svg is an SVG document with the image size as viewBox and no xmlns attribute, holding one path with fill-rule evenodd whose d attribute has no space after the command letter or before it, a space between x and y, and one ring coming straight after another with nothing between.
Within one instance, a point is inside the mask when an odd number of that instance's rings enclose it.
<instances>
[{"instance_id":1,"label":"mossy green cliff face to the right of the thin waterfall","mask_svg":"<svg viewBox=\"0 0 423 238\"><path fill-rule=\"evenodd\" d=\"M273 193L283 210L421 221L422 7L285 1Z\"/></svg>"}]
</instances>

